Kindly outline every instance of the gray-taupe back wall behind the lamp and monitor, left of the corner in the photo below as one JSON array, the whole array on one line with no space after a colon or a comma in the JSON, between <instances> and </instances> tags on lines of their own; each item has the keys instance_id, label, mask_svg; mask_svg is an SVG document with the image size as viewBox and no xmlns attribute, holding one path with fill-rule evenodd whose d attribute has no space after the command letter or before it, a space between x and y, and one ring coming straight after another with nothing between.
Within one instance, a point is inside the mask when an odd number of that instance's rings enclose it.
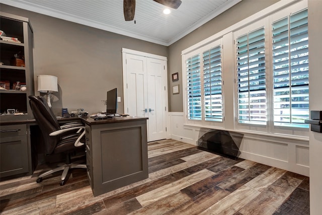
<instances>
[{"instance_id":1,"label":"gray-taupe back wall behind the lamp and monitor, left of the corner","mask_svg":"<svg viewBox=\"0 0 322 215\"><path fill-rule=\"evenodd\" d=\"M29 18L34 30L35 94L37 75L58 77L52 108L90 113L106 110L106 92L118 89L123 113L122 48L168 57L168 47L0 5L1 11Z\"/></svg>"}]
</instances>

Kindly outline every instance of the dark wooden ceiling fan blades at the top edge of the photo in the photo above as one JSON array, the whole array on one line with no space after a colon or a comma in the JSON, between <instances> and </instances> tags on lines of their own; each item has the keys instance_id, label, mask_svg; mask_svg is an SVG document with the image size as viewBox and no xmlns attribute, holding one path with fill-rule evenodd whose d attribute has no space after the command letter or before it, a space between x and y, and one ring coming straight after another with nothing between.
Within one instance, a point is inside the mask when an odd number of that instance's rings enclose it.
<instances>
[{"instance_id":1,"label":"dark wooden ceiling fan blades at the top edge of the photo","mask_svg":"<svg viewBox=\"0 0 322 215\"><path fill-rule=\"evenodd\" d=\"M153 0L169 8L178 9L181 0ZM135 14L135 0L123 0L123 12L125 21L132 21Z\"/></svg>"}]
</instances>

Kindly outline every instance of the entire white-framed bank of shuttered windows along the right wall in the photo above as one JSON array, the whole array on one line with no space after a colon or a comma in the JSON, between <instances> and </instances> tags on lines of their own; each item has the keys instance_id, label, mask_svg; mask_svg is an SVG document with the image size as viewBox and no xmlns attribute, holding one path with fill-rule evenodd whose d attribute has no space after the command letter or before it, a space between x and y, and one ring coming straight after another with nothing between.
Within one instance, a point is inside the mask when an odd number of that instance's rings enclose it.
<instances>
[{"instance_id":1,"label":"entire white-framed bank of shuttered windows along the right wall","mask_svg":"<svg viewBox=\"0 0 322 215\"><path fill-rule=\"evenodd\" d=\"M280 1L183 50L185 123L306 137L307 27L306 0Z\"/></svg>"}]
</instances>

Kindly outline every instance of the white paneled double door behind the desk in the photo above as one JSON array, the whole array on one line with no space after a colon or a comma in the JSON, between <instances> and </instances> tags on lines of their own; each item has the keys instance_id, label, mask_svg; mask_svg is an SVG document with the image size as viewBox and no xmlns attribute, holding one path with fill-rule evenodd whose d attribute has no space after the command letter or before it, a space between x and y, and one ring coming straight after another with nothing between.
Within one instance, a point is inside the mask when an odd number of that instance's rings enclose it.
<instances>
[{"instance_id":1,"label":"white paneled double door behind the desk","mask_svg":"<svg viewBox=\"0 0 322 215\"><path fill-rule=\"evenodd\" d=\"M162 56L129 49L123 49L122 52L124 112L131 116L148 117L148 141L165 139L167 60Z\"/></svg>"}]
</instances>

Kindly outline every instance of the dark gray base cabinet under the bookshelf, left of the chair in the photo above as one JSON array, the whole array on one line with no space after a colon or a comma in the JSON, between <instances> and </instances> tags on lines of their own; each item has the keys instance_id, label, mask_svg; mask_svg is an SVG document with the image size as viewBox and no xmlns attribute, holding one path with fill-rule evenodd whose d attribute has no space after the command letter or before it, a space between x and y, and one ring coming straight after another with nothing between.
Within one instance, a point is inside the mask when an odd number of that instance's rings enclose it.
<instances>
[{"instance_id":1,"label":"dark gray base cabinet under the bookshelf, left of the chair","mask_svg":"<svg viewBox=\"0 0 322 215\"><path fill-rule=\"evenodd\" d=\"M27 125L1 126L0 135L0 177L29 173Z\"/></svg>"}]
</instances>

